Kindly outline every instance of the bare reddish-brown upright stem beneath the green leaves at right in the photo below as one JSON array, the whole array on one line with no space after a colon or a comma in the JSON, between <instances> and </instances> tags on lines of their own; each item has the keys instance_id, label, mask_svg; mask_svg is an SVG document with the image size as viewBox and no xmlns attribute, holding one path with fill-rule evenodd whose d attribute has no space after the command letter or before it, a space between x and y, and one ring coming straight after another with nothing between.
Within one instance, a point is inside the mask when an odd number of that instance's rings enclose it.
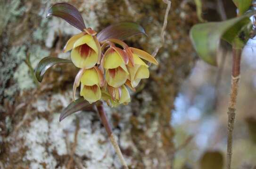
<instances>
[{"instance_id":1,"label":"bare reddish-brown upright stem beneath the green leaves at right","mask_svg":"<svg viewBox=\"0 0 256 169\"><path fill-rule=\"evenodd\" d=\"M227 165L226 169L231 169L232 159L232 141L233 129L236 116L236 102L240 80L240 62L241 62L241 49L233 49L233 63L232 63L232 80L231 80L231 93L230 104L228 108L228 139L227 139Z\"/></svg>"}]
</instances>

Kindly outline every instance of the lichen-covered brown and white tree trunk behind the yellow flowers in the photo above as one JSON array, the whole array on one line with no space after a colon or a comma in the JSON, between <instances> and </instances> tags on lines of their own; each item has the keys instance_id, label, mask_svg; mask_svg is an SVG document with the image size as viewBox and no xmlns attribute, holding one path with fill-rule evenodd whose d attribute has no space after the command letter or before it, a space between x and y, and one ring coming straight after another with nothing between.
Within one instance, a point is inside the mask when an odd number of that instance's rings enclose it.
<instances>
[{"instance_id":1,"label":"lichen-covered brown and white tree trunk behind the yellow flowers","mask_svg":"<svg viewBox=\"0 0 256 169\"><path fill-rule=\"evenodd\" d=\"M72 64L57 65L41 84L35 68L46 56L63 54L65 42L79 31L59 18L46 18L59 0L3 0L0 2L0 168L109 169L121 167L105 129L95 112L80 112L58 122L61 110L72 101L76 72ZM148 37L126 42L152 53L161 43L166 4L161 0L69 0L81 11L86 26L140 23ZM171 126L173 101L194 65L189 30L197 22L194 9L172 0L165 45L151 66L150 78L132 92L128 106L106 113L130 168L171 169L175 146Z\"/></svg>"}]
</instances>

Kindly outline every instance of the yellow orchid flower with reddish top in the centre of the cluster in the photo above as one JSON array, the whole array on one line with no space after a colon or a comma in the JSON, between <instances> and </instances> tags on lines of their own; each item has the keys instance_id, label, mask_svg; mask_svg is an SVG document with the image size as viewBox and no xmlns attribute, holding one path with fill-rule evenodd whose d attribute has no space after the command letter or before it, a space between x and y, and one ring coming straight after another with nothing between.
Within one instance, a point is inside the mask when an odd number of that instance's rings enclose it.
<instances>
[{"instance_id":1,"label":"yellow orchid flower with reddish top in the centre of the cluster","mask_svg":"<svg viewBox=\"0 0 256 169\"><path fill-rule=\"evenodd\" d=\"M107 84L112 87L123 85L129 75L126 64L128 58L124 51L118 47L110 47L104 55L103 67L106 69Z\"/></svg>"}]
</instances>

